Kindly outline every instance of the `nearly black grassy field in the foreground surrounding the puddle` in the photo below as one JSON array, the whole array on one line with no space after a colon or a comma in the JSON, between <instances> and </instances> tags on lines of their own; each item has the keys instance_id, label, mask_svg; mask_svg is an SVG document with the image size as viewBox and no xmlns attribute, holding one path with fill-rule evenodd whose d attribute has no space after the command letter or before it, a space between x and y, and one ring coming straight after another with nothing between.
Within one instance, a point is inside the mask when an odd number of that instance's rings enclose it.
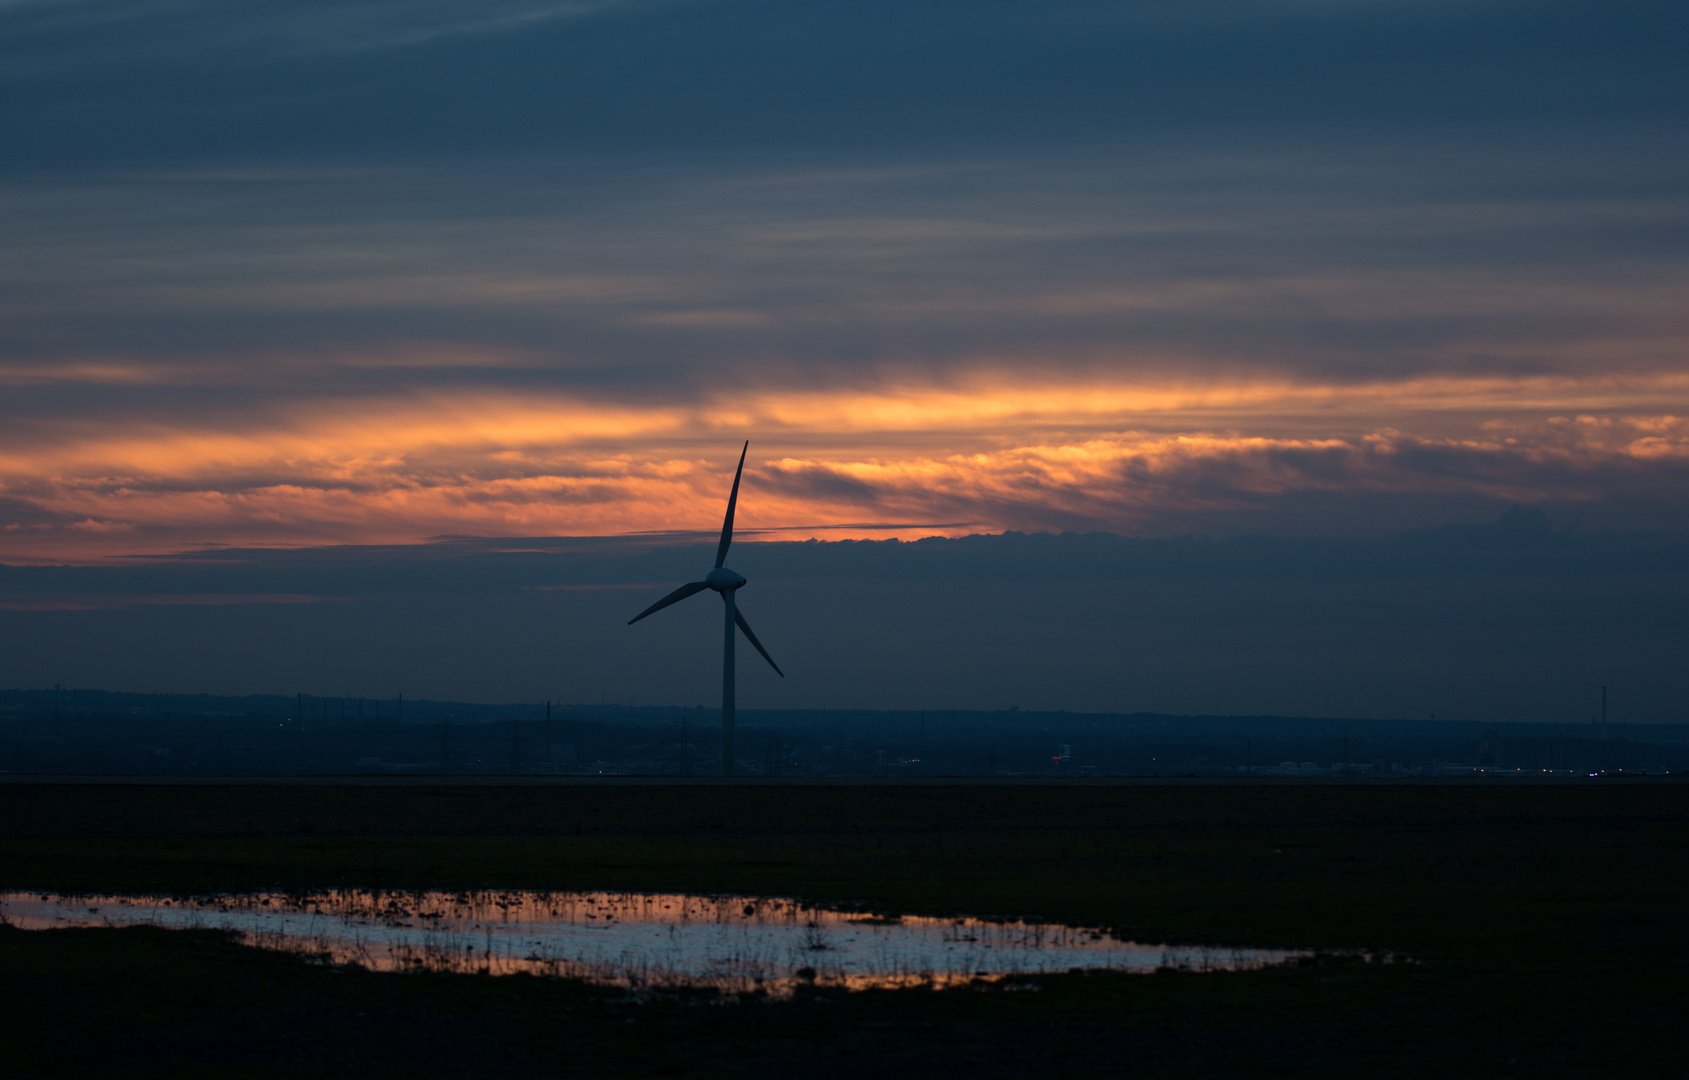
<instances>
[{"instance_id":1,"label":"nearly black grassy field in the foreground surrounding the puddle","mask_svg":"<svg viewBox=\"0 0 1689 1080\"><path fill-rule=\"evenodd\" d=\"M637 1002L204 933L0 928L8 1075L1684 1075L1689 784L0 784L0 889L760 892L1149 941L1231 975Z\"/></svg>"}]
</instances>

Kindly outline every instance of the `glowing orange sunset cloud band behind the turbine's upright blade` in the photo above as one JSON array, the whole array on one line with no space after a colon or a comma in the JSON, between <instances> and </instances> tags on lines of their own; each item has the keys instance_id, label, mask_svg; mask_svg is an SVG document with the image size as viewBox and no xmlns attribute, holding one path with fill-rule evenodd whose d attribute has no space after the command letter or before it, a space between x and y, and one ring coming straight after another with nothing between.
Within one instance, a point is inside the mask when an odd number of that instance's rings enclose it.
<instances>
[{"instance_id":1,"label":"glowing orange sunset cloud band behind the turbine's upright blade","mask_svg":"<svg viewBox=\"0 0 1689 1080\"><path fill-rule=\"evenodd\" d=\"M1167 509L1307 490L1598 499L1618 475L1675 477L1689 460L1686 399L1684 375L1355 385L1000 375L698 402L480 392L198 426L56 423L0 436L0 505L12 517L0 519L0 558L708 531L747 434L758 490L743 526L831 536L1132 531ZM964 524L922 524L932 521Z\"/></svg>"}]
</instances>

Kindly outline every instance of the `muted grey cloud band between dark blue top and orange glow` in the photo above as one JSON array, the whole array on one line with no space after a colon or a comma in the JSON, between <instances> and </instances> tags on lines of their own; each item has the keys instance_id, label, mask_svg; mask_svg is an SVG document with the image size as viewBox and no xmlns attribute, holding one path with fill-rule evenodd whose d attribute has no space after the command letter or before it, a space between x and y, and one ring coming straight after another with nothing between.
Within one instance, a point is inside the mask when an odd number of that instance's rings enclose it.
<instances>
[{"instance_id":1,"label":"muted grey cloud band between dark blue top and orange glow","mask_svg":"<svg viewBox=\"0 0 1689 1080\"><path fill-rule=\"evenodd\" d=\"M326 389L326 360L405 352L642 384L1677 363L1689 262L1645 238L1682 226L1681 196L1579 171L1483 194L1559 167L1523 147L1473 147L1486 174L1427 191L1444 181L1420 147L1373 154L15 181L0 379L152 363Z\"/></svg>"}]
</instances>

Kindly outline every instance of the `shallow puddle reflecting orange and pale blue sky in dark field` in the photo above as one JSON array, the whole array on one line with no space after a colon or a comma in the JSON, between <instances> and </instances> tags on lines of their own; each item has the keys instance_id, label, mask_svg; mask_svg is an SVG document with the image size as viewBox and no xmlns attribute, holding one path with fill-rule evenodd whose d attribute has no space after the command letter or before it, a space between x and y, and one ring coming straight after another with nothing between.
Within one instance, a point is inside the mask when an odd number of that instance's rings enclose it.
<instances>
[{"instance_id":1,"label":"shallow puddle reflecting orange and pale blue sky in dark field","mask_svg":"<svg viewBox=\"0 0 1689 1080\"><path fill-rule=\"evenodd\" d=\"M1311 953L1118 941L1040 923L880 918L790 899L660 892L258 892L201 899L0 894L22 930L228 930L247 945L378 972L562 975L633 990L713 987L789 995L954 985L1039 972L1236 972Z\"/></svg>"}]
</instances>

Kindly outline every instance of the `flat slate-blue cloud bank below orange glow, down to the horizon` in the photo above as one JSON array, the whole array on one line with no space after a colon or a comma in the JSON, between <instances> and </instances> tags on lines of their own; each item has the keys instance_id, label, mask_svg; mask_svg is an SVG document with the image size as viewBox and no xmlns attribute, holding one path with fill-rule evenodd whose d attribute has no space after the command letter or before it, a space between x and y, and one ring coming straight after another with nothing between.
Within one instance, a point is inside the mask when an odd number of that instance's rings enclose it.
<instances>
[{"instance_id":1,"label":"flat slate-blue cloud bank below orange glow, down to the horizon","mask_svg":"<svg viewBox=\"0 0 1689 1080\"><path fill-rule=\"evenodd\" d=\"M7 568L0 644L22 685L692 703L720 608L625 622L711 554L458 539ZM790 676L743 671L747 706L1588 720L1611 685L1627 718L1682 718L1686 541L1525 509L1371 539L741 543L733 565Z\"/></svg>"}]
</instances>

